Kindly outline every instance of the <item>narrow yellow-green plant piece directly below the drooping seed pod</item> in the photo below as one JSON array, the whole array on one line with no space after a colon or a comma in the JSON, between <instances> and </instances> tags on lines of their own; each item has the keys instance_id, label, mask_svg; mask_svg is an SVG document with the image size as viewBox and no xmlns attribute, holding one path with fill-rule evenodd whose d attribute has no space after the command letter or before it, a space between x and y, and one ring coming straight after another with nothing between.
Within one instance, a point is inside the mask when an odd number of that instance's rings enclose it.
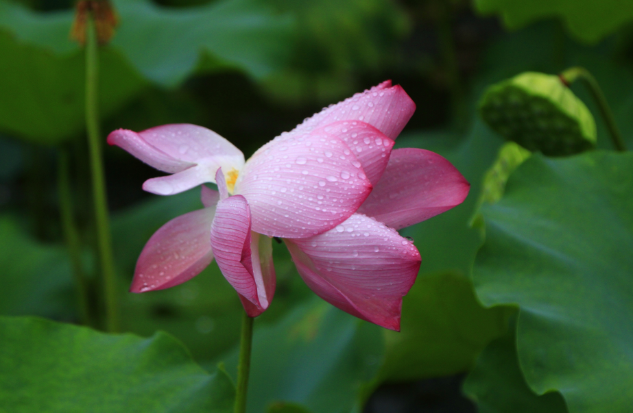
<instances>
[{"instance_id":1,"label":"narrow yellow-green plant piece directly below the drooping seed pod","mask_svg":"<svg viewBox=\"0 0 633 413\"><path fill-rule=\"evenodd\" d=\"M523 149L520 145L514 142L506 142L497 155L497 160L486 171L486 175L483 175L483 186L479 199L477 200L477 207L475 208L475 215L470 220L471 226L479 226L481 221L481 214L479 209L484 203L496 203L503 197L505 192L505 184L510 175L514 172L519 165L523 164L527 158L532 155L532 152L527 149Z\"/></svg>"}]
</instances>

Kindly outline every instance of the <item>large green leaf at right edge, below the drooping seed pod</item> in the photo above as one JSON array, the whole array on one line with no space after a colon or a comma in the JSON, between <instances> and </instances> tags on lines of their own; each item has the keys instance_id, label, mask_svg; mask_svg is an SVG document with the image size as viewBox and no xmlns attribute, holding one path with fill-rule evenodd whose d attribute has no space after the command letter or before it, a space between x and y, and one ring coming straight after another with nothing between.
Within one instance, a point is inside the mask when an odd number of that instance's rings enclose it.
<instances>
[{"instance_id":1,"label":"large green leaf at right edge, below the drooping seed pod","mask_svg":"<svg viewBox=\"0 0 633 413\"><path fill-rule=\"evenodd\" d=\"M633 154L533 155L481 208L473 277L485 305L516 304L518 360L569 411L633 403Z\"/></svg>"}]
</instances>

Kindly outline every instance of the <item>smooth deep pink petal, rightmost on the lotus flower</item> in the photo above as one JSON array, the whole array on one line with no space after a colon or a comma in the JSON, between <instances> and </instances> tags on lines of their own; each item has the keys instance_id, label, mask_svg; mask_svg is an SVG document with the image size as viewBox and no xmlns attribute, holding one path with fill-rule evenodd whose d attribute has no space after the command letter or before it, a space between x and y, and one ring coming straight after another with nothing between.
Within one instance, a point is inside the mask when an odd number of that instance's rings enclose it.
<instances>
[{"instance_id":1,"label":"smooth deep pink petal, rightmost on the lotus flower","mask_svg":"<svg viewBox=\"0 0 633 413\"><path fill-rule=\"evenodd\" d=\"M459 205L469 189L464 176L437 153L396 149L385 173L358 212L401 229Z\"/></svg>"}]
</instances>

